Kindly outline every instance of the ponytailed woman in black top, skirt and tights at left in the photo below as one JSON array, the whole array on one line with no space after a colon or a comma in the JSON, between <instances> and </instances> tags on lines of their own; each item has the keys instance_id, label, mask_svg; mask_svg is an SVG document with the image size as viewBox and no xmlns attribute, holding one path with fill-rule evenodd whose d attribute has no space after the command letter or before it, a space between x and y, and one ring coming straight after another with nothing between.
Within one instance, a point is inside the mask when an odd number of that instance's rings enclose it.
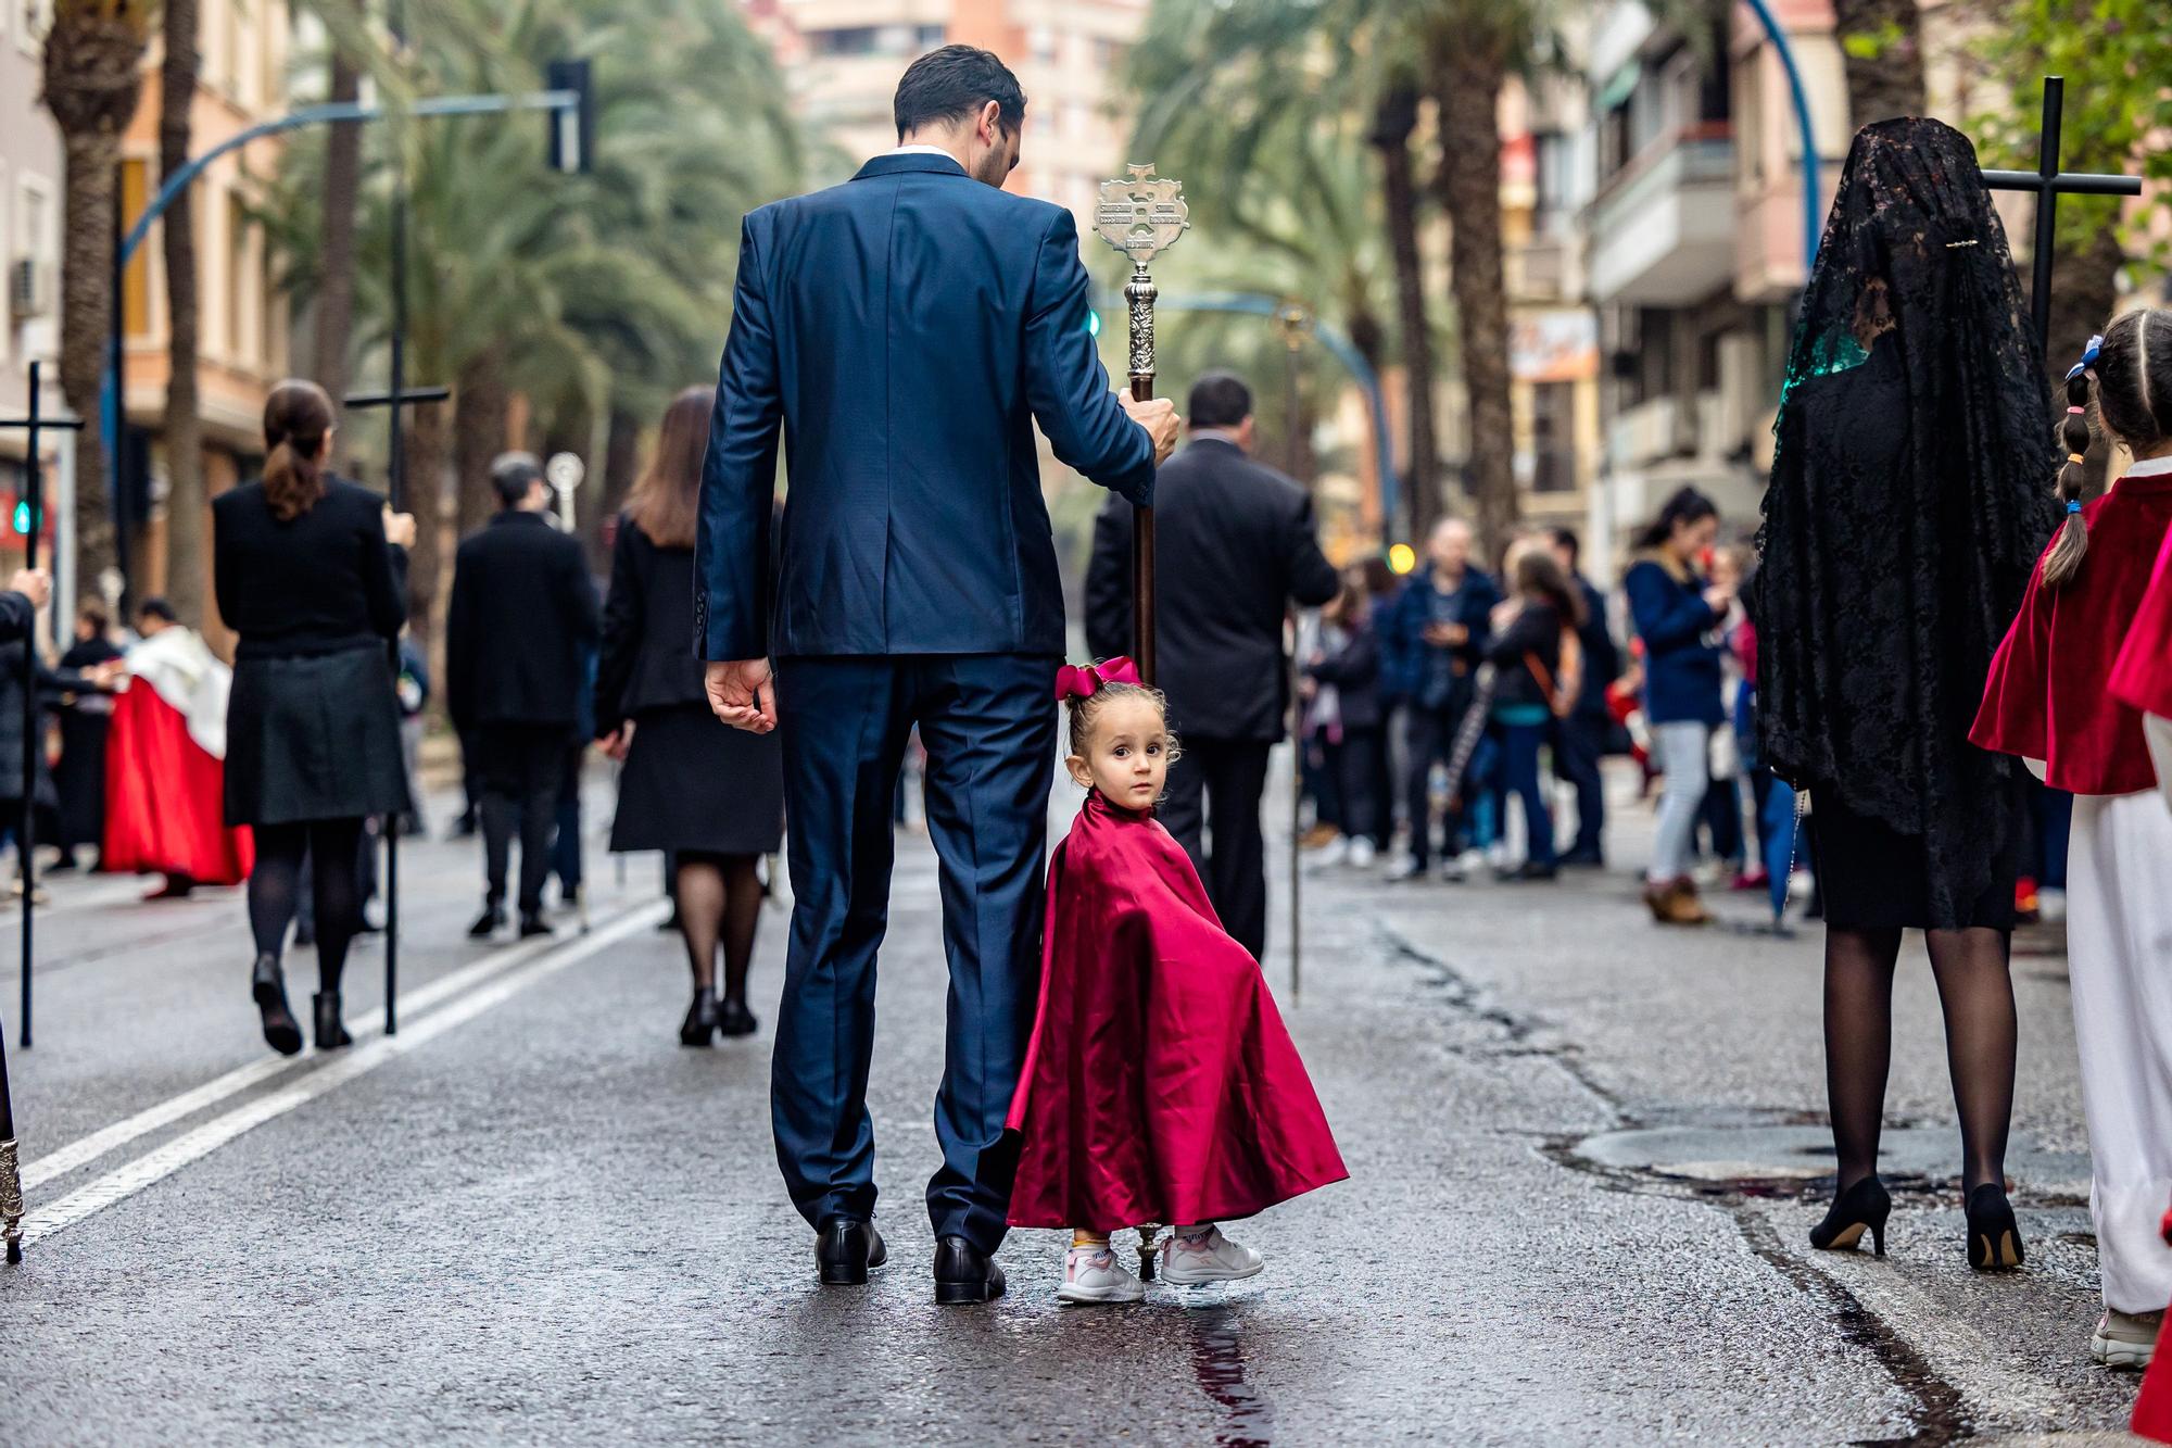
<instances>
[{"instance_id":1,"label":"ponytailed woman in black top, skirt and tights at left","mask_svg":"<svg viewBox=\"0 0 2172 1448\"><path fill-rule=\"evenodd\" d=\"M352 1037L339 972L361 926L354 870L363 822L408 809L391 644L406 620L402 546L415 520L324 472L332 400L280 383L265 402L263 483L211 504L219 615L239 635L226 704L226 822L256 828L250 994L265 1041L302 1050L280 950L295 915L302 857L317 907L317 1050Z\"/></svg>"}]
</instances>

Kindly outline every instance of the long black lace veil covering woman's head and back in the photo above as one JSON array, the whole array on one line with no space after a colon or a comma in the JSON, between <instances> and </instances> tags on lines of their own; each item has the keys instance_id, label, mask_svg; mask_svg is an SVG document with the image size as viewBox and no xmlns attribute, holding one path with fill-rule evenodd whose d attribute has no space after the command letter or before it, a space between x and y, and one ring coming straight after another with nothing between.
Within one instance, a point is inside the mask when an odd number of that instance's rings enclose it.
<instances>
[{"instance_id":1,"label":"long black lace veil covering woman's head and back","mask_svg":"<svg viewBox=\"0 0 2172 1448\"><path fill-rule=\"evenodd\" d=\"M1766 761L1922 835L1933 915L1957 918L2013 828L2013 761L1968 726L2057 522L2057 450L2005 228L1950 126L1855 137L1777 435L1753 600Z\"/></svg>"}]
</instances>

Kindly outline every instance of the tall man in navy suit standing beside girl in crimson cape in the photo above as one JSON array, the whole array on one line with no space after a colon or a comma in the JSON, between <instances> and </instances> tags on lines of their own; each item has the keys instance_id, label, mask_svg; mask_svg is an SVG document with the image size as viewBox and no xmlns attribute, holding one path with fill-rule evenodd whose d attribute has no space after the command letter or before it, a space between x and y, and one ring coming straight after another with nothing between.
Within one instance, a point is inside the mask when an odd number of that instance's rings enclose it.
<instances>
[{"instance_id":1,"label":"tall man in navy suit standing beside girl in crimson cape","mask_svg":"<svg viewBox=\"0 0 2172 1448\"><path fill-rule=\"evenodd\" d=\"M951 974L927 1213L936 1300L982 1302L1003 1291L1003 1115L1040 976L1064 650L1034 424L1060 461L1149 502L1177 420L1110 391L1071 213L1001 191L1025 122L1010 70L945 46L912 63L895 111L895 152L741 230L695 631L717 715L784 731L797 904L771 1120L823 1283L886 1259L864 1100L875 950L914 724L927 746ZM791 491L771 565L780 426Z\"/></svg>"}]
</instances>

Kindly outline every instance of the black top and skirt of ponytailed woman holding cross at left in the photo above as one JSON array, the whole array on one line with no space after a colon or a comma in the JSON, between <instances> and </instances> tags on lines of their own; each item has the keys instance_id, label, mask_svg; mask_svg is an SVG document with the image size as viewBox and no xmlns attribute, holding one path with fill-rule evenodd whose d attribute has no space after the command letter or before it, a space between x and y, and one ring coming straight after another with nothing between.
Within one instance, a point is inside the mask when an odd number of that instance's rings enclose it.
<instances>
[{"instance_id":1,"label":"black top and skirt of ponytailed woman holding cross at left","mask_svg":"<svg viewBox=\"0 0 2172 1448\"><path fill-rule=\"evenodd\" d=\"M280 520L261 483L211 502L219 615L239 635L226 702L226 822L408 809L391 641L406 620L382 500L326 478Z\"/></svg>"}]
</instances>

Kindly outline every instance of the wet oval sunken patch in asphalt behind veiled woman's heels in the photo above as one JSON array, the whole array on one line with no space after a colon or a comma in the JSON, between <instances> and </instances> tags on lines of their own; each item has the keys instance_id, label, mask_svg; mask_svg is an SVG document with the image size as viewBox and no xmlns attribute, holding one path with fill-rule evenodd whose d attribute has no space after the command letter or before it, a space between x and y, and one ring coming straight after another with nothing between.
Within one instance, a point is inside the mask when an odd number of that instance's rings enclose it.
<instances>
[{"instance_id":1,"label":"wet oval sunken patch in asphalt behind veiled woman's heels","mask_svg":"<svg viewBox=\"0 0 2172 1448\"><path fill-rule=\"evenodd\" d=\"M1731 1191L1801 1191L1833 1174L1824 1126L1646 1126L1586 1137L1570 1154L1605 1172ZM1879 1176L1898 1191L1948 1189L1959 1161L1961 1133L1950 1128L1887 1126L1879 1141ZM2031 1198L2085 1198L2089 1157L2013 1141L2007 1176Z\"/></svg>"}]
</instances>

